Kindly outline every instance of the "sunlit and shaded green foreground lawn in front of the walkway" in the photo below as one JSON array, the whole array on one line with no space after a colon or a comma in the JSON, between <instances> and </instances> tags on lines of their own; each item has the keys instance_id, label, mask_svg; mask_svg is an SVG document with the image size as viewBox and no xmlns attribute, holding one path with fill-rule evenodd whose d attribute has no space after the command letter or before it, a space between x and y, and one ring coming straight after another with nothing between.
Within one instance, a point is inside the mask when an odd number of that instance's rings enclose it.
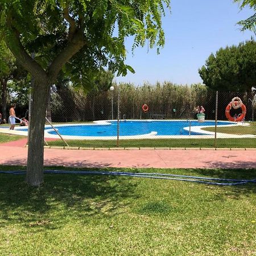
<instances>
[{"instance_id":1,"label":"sunlit and shaded green foreground lawn in front of the walkway","mask_svg":"<svg viewBox=\"0 0 256 256\"><path fill-rule=\"evenodd\" d=\"M256 177L256 170L105 170ZM255 184L46 174L32 188L23 180L0 174L0 255L256 254Z\"/></svg>"}]
</instances>

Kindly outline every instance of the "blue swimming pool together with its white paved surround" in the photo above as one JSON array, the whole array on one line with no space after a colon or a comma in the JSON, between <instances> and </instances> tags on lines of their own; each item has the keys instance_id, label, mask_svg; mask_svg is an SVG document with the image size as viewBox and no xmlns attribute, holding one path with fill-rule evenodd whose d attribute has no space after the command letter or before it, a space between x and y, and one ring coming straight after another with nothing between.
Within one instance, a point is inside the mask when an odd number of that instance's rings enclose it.
<instances>
[{"instance_id":1,"label":"blue swimming pool together with its white paved surround","mask_svg":"<svg viewBox=\"0 0 256 256\"><path fill-rule=\"evenodd\" d=\"M189 127L191 123L191 127ZM195 138L207 139L214 138L212 131L201 130L203 127L214 126L214 121L199 123L196 120L121 120L119 139L182 139ZM250 123L234 123L230 121L218 121L218 126L249 126ZM64 139L79 140L108 140L117 139L117 121L104 120L94 121L93 123L65 123L54 125ZM189 137L189 129L191 136ZM27 126L16 126L14 130L2 129L0 133L16 134L27 136ZM172 135L170 135L172 134ZM53 130L51 125L46 125L44 138L60 139L59 135ZM217 133L216 138L256 138L252 134L226 134Z\"/></svg>"}]
</instances>

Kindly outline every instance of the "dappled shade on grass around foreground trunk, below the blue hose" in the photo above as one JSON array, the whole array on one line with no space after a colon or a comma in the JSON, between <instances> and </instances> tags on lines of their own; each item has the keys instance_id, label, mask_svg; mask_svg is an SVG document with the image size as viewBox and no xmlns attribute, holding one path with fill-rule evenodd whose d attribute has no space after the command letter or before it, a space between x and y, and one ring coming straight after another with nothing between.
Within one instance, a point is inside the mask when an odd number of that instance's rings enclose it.
<instances>
[{"instance_id":1,"label":"dappled shade on grass around foreground trunk, below the blue hose","mask_svg":"<svg viewBox=\"0 0 256 256\"><path fill-rule=\"evenodd\" d=\"M0 174L0 187L0 226L21 224L37 232L71 220L110 218L135 198L137 183L126 177L45 174L44 184L34 188L24 183L24 175Z\"/></svg>"}]
</instances>

